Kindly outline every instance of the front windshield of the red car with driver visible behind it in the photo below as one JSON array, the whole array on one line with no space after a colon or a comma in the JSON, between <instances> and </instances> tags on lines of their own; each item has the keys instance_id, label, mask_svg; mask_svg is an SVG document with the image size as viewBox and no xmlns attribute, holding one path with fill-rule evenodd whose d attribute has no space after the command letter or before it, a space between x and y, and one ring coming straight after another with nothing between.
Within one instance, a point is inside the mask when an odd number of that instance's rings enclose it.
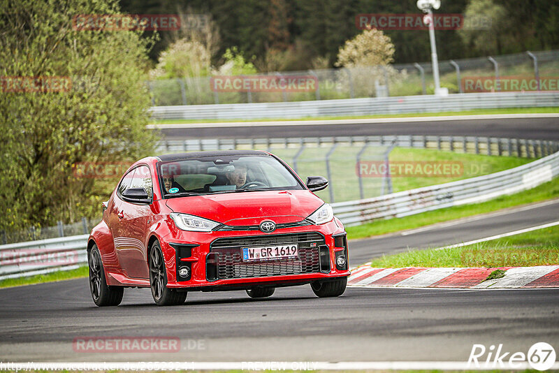
<instances>
[{"instance_id":1,"label":"front windshield of the red car with driver visible behind it","mask_svg":"<svg viewBox=\"0 0 559 373\"><path fill-rule=\"evenodd\" d=\"M273 156L201 156L159 163L166 198L192 194L303 189Z\"/></svg>"}]
</instances>

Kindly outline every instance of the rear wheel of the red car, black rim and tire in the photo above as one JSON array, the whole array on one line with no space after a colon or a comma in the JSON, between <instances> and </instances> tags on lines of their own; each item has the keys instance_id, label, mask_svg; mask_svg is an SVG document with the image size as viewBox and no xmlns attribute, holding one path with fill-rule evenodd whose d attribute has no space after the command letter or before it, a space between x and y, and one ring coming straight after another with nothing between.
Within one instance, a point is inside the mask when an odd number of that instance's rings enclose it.
<instances>
[{"instance_id":1,"label":"rear wheel of the red car, black rim and tire","mask_svg":"<svg viewBox=\"0 0 559 373\"><path fill-rule=\"evenodd\" d=\"M107 285L101 253L96 244L87 255L87 263L89 265L89 291L92 293L93 302L99 307L119 305L122 302L124 288Z\"/></svg>"}]
</instances>

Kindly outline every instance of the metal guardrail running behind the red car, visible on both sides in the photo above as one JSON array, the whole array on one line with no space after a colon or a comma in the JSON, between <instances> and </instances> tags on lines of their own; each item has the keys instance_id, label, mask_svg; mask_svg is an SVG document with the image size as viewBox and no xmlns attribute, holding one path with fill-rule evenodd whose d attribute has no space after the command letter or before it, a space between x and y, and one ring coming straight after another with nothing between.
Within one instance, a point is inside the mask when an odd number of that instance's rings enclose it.
<instances>
[{"instance_id":1,"label":"metal guardrail running behind the red car, visible on both sides","mask_svg":"<svg viewBox=\"0 0 559 373\"><path fill-rule=\"evenodd\" d=\"M376 198L333 203L336 216L354 226L490 200L533 188L559 175L559 152L523 166L471 179ZM0 279L68 270L87 263L87 235L0 246Z\"/></svg>"}]
</instances>

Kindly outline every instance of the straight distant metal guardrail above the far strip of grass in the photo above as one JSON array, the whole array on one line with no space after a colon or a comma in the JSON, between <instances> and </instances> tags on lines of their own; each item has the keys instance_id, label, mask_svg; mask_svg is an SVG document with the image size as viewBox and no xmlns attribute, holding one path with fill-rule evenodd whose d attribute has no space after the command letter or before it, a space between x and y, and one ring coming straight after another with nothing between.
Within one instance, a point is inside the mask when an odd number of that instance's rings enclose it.
<instances>
[{"instance_id":1,"label":"straight distant metal guardrail above the far strip of grass","mask_svg":"<svg viewBox=\"0 0 559 373\"><path fill-rule=\"evenodd\" d=\"M494 108L559 106L559 92L502 92L400 96L343 100L154 106L154 119L261 119L454 112Z\"/></svg>"}]
</instances>

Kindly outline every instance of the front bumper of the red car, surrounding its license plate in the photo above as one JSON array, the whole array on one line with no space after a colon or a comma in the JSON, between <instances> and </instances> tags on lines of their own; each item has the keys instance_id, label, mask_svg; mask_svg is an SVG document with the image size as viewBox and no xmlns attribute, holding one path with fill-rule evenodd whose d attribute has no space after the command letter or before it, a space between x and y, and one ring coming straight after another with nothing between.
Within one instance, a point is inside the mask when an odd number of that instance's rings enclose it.
<instances>
[{"instance_id":1,"label":"front bumper of the red car, surrounding its license plate","mask_svg":"<svg viewBox=\"0 0 559 373\"><path fill-rule=\"evenodd\" d=\"M241 247L297 243L298 258L244 262ZM161 249L167 286L185 290L242 290L255 286L293 286L349 276L345 231L337 219L316 225L261 231L173 231ZM344 265L340 265L344 257ZM187 268L186 277L180 268ZM184 274L183 272L183 274Z\"/></svg>"}]
</instances>

